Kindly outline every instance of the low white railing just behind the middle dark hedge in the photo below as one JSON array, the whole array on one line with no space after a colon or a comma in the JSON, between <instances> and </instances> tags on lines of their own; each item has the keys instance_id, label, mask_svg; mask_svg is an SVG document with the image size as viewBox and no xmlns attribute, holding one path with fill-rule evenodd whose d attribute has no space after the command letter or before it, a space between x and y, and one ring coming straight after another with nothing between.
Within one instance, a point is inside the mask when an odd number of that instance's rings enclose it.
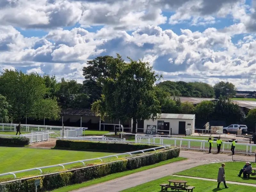
<instances>
[{"instance_id":1,"label":"low white railing just behind the middle dark hedge","mask_svg":"<svg viewBox=\"0 0 256 192\"><path fill-rule=\"evenodd\" d=\"M57 139L68 139L68 140L90 140L90 141L125 141L124 139L115 137L102 136L87 136L87 137L57 137Z\"/></svg>"}]
</instances>

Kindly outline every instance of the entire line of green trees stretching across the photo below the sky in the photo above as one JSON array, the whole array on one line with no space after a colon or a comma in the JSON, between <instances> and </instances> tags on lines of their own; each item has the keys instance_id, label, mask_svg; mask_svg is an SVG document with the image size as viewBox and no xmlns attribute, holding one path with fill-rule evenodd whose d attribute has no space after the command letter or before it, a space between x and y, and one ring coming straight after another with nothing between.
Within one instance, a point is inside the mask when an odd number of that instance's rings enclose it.
<instances>
[{"instance_id":1,"label":"entire line of green trees stretching across the photo below the sky","mask_svg":"<svg viewBox=\"0 0 256 192\"><path fill-rule=\"evenodd\" d=\"M61 108L91 108L102 119L104 116L113 120L133 119L133 127L138 120L156 118L159 113L196 114L196 121L202 123L246 120L241 108L228 99L236 93L234 84L220 82L211 86L183 81L156 84L163 76L152 71L148 62L127 59L128 62L117 54L88 61L83 68L83 84L64 78L58 82L55 76L46 74L4 70L0 75L0 122L25 117L59 119ZM181 103L179 96L219 100L194 106Z\"/></svg>"}]
</instances>

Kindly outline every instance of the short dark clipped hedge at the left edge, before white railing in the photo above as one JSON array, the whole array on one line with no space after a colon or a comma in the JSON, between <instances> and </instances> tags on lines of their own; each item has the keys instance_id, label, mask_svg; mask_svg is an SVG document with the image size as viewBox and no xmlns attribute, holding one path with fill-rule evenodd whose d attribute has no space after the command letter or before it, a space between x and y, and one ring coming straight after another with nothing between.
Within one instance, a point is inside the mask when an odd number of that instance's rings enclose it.
<instances>
[{"instance_id":1,"label":"short dark clipped hedge at the left edge, before white railing","mask_svg":"<svg viewBox=\"0 0 256 192\"><path fill-rule=\"evenodd\" d=\"M0 146L20 146L29 144L27 137L0 137Z\"/></svg>"}]
</instances>

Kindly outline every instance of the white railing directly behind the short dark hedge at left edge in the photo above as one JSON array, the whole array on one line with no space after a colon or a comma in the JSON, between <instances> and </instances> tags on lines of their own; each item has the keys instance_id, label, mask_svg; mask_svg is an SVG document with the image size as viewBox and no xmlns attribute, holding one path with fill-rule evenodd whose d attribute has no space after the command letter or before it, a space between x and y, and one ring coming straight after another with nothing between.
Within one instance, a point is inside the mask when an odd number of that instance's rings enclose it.
<instances>
[{"instance_id":1,"label":"white railing directly behind the short dark hedge at left edge","mask_svg":"<svg viewBox=\"0 0 256 192\"><path fill-rule=\"evenodd\" d=\"M28 133L28 134L21 134L21 135L4 135L4 134L0 134L0 136L4 136L4 137L27 137L29 139L30 143L33 142L40 142L40 141L48 141L50 134L52 134L54 132L32 132L32 133Z\"/></svg>"}]
</instances>

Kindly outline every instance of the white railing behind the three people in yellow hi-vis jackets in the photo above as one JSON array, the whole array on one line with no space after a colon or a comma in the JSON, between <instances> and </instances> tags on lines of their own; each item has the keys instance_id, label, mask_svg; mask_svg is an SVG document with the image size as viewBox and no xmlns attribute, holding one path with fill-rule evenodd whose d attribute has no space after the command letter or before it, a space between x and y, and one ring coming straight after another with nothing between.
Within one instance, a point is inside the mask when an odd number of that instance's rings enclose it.
<instances>
[{"instance_id":1,"label":"white railing behind the three people in yellow hi-vis jackets","mask_svg":"<svg viewBox=\"0 0 256 192\"><path fill-rule=\"evenodd\" d=\"M164 138L164 137L150 137L150 136L135 136L135 142L147 142L160 145L170 145L172 147L180 147L184 149L193 150L209 150L208 140L196 140L196 139L181 139L181 138ZM222 142L221 151L230 152L231 142ZM237 153L254 152L256 145L247 143L236 143ZM217 143L213 141L212 151L217 151Z\"/></svg>"}]
</instances>

